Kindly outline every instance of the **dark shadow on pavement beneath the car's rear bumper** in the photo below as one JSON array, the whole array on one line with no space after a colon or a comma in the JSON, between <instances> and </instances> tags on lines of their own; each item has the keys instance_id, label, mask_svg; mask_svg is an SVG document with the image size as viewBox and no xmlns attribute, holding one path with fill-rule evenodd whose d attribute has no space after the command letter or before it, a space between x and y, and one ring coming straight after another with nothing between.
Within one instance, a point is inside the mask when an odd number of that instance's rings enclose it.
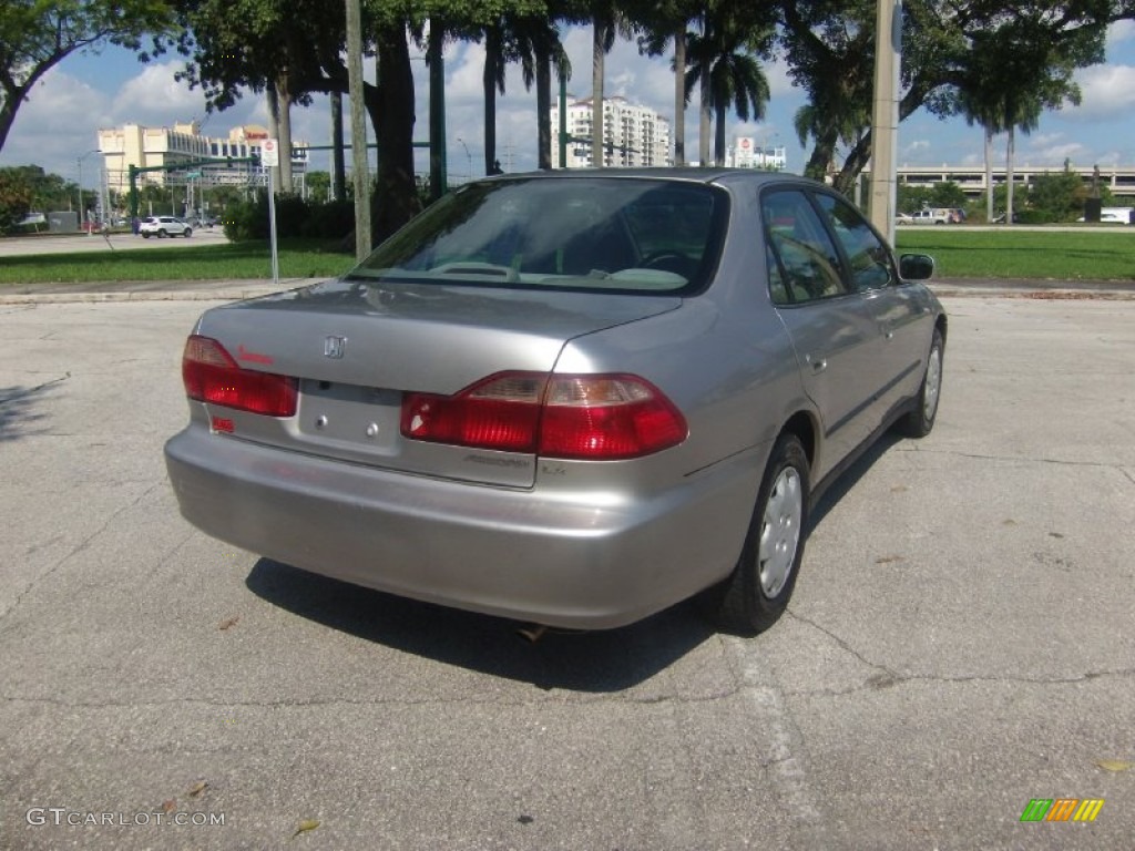
<instances>
[{"instance_id":1,"label":"dark shadow on pavement beneath the car's rear bumper","mask_svg":"<svg viewBox=\"0 0 1135 851\"><path fill-rule=\"evenodd\" d=\"M548 630L532 642L519 634L527 624L516 621L395 597L269 558L257 562L245 583L268 603L333 630L540 689L623 691L715 634L689 603L622 629Z\"/></svg>"}]
</instances>

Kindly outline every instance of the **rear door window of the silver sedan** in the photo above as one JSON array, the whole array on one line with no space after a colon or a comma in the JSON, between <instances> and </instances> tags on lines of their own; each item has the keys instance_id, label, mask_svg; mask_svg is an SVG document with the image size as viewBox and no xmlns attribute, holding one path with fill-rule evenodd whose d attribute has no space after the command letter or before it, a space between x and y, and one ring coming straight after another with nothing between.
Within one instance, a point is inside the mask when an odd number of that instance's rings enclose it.
<instances>
[{"instance_id":1,"label":"rear door window of the silver sedan","mask_svg":"<svg viewBox=\"0 0 1135 851\"><path fill-rule=\"evenodd\" d=\"M839 251L805 193L766 192L762 213L774 304L802 304L848 292Z\"/></svg>"}]
</instances>

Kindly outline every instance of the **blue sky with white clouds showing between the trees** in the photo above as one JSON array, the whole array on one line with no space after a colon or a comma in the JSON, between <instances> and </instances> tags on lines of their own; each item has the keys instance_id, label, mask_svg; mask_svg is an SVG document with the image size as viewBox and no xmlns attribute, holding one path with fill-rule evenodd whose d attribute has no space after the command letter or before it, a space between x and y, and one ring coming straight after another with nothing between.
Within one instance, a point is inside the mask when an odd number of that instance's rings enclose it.
<instances>
[{"instance_id":1,"label":"blue sky with white clouds showing between the trees","mask_svg":"<svg viewBox=\"0 0 1135 851\"><path fill-rule=\"evenodd\" d=\"M569 91L590 93L590 31L572 30L565 45L575 73ZM35 163L75 180L78 158L98 146L100 127L127 123L171 126L196 119L203 132L226 136L243 124L266 124L263 99L250 93L236 107L209 115L200 91L191 91L174 79L180 67L176 57L141 65L135 57L116 48L101 53L73 56L52 69L20 108L0 166ZM454 44L446 52L446 98L448 159L453 182L472 172L481 174L482 103L481 65L484 52L476 44ZM418 127L415 137L426 138L429 99L424 65L413 62L417 86ZM673 77L669 59L646 59L637 48L620 42L607 58L607 95L622 95L646 103L665 116L673 110ZM758 143L788 149L789 169L804 167L806 152L792 130L792 115L802 98L789 82L783 67L766 68L772 99L765 121L740 124L731 120L729 137L747 135ZM1024 166L1135 165L1135 24L1112 27L1107 62L1084 69L1077 79L1083 90L1078 107L1046 113L1039 129L1018 136L1017 162ZM688 155L697 154L697 95L687 110ZM346 110L345 110L346 111ZM497 151L505 170L528 170L536 165L535 92L526 92L518 70L510 73L507 94L498 99ZM330 143L329 108L326 98L293 111L293 136L310 144ZM460 141L459 141L460 140ZM462 144L464 143L464 144ZM997 142L1003 157L1004 140ZM468 154L466 154L468 149ZM423 155L422 155L423 157ZM941 121L924 113L911 116L899 128L900 165L975 165L982 162L982 132L964 120ZM471 160L471 165L470 165ZM83 163L83 183L95 183L98 158ZM316 159L313 168L327 168ZM424 159L419 165L426 170Z\"/></svg>"}]
</instances>

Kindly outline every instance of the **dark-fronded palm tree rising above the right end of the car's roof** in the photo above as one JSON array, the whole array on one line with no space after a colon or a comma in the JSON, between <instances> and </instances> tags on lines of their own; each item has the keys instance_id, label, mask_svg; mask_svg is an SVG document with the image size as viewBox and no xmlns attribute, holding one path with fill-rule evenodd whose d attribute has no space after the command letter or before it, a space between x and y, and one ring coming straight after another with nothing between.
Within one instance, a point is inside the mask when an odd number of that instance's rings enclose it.
<instances>
[{"instance_id":1,"label":"dark-fronded palm tree rising above the right end of the car's roof","mask_svg":"<svg viewBox=\"0 0 1135 851\"><path fill-rule=\"evenodd\" d=\"M765 117L768 79L754 53L762 51L771 37L772 32L765 27L754 30L722 9L704 16L701 32L690 36L686 94L689 98L693 86L700 85L703 116L711 108L714 112L714 160L718 166L725 165L725 115L730 106L742 121ZM703 125L703 138L706 129ZM707 154L703 151L703 163Z\"/></svg>"}]
</instances>

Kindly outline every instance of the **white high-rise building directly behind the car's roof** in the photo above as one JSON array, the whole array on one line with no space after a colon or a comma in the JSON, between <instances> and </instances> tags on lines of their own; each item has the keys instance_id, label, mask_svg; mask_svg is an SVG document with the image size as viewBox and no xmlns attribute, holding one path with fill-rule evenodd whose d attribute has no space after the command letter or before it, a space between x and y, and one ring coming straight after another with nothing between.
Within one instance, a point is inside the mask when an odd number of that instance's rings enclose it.
<instances>
[{"instance_id":1,"label":"white high-rise building directly behind the car's roof","mask_svg":"<svg viewBox=\"0 0 1135 851\"><path fill-rule=\"evenodd\" d=\"M590 98L568 103L568 168L587 168L591 157L591 120L595 110ZM561 168L560 107L552 108L552 167ZM603 165L670 166L670 119L649 107L628 103L625 98L603 100Z\"/></svg>"}]
</instances>

